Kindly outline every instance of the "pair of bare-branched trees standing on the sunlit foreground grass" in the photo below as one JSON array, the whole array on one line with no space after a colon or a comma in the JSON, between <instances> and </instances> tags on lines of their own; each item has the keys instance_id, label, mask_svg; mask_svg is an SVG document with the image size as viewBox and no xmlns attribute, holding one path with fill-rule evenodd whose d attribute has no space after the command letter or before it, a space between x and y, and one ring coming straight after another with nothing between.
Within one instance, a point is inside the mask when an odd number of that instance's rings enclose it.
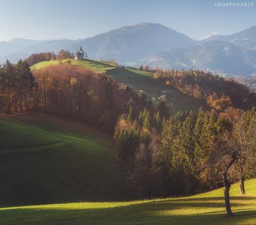
<instances>
[{"instance_id":1,"label":"pair of bare-branched trees standing on the sunlit foreground grass","mask_svg":"<svg viewBox=\"0 0 256 225\"><path fill-rule=\"evenodd\" d=\"M224 184L224 199L227 215L233 215L230 206L230 185L239 179L240 191L245 194L245 175L255 174L255 112L242 113L233 127L224 130L205 149L205 163L200 168L200 177L206 181Z\"/></svg>"}]
</instances>

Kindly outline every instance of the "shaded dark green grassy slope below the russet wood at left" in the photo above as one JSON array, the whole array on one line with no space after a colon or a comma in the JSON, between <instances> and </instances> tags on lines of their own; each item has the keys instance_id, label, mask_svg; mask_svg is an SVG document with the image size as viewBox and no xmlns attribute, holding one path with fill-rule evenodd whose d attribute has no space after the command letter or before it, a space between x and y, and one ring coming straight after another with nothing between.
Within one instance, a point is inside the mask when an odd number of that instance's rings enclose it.
<instances>
[{"instance_id":1,"label":"shaded dark green grassy slope below the russet wood at left","mask_svg":"<svg viewBox=\"0 0 256 225\"><path fill-rule=\"evenodd\" d=\"M111 136L47 115L0 116L0 205L128 199Z\"/></svg>"}]
</instances>

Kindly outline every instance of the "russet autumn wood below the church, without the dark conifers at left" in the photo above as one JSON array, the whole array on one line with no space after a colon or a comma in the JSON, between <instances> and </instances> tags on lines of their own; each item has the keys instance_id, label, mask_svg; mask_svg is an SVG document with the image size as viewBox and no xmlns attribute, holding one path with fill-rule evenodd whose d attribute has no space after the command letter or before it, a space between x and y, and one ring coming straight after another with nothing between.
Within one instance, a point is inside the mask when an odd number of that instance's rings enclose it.
<instances>
[{"instance_id":1,"label":"russet autumn wood below the church, without the dark conifers at left","mask_svg":"<svg viewBox=\"0 0 256 225\"><path fill-rule=\"evenodd\" d=\"M36 107L105 130L114 130L127 102L133 102L137 108L145 107L129 87L120 88L111 78L86 68L54 65L33 74L38 84Z\"/></svg>"}]
</instances>

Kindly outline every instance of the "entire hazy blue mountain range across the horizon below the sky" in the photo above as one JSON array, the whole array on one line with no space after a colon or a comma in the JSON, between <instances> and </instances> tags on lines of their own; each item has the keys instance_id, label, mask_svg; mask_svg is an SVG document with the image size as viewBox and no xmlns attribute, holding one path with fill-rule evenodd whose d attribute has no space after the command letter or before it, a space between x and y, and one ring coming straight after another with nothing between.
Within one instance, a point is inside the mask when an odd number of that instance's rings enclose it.
<instances>
[{"instance_id":1,"label":"entire hazy blue mountain range across the horizon below the sky","mask_svg":"<svg viewBox=\"0 0 256 225\"><path fill-rule=\"evenodd\" d=\"M78 40L0 41L0 62L15 62L36 52L75 52L82 46L89 58L116 60L121 65L200 69L218 74L256 74L256 26L231 35L193 40L154 23L124 26Z\"/></svg>"}]
</instances>

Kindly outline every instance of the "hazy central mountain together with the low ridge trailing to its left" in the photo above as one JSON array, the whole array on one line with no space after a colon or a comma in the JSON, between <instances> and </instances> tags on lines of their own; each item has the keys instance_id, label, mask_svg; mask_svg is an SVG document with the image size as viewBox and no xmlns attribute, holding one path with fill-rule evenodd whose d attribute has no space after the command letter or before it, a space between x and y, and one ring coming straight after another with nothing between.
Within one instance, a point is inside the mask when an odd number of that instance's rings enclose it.
<instances>
[{"instance_id":1,"label":"hazy central mountain together with the low ridge trailing to its left","mask_svg":"<svg viewBox=\"0 0 256 225\"><path fill-rule=\"evenodd\" d=\"M75 52L82 46L92 58L114 58L124 64L165 49L186 47L195 43L196 41L190 37L166 26L154 23L139 23L136 26L123 26L82 40L38 40L38 43L32 43L28 46L16 45L14 47L19 52L32 54L45 51L58 52L61 49ZM10 47L12 42L5 42L5 45ZM8 55L14 53L13 51L2 51L0 43L0 55L4 55L2 52L5 52L5 55L7 55L7 52Z\"/></svg>"}]
</instances>

